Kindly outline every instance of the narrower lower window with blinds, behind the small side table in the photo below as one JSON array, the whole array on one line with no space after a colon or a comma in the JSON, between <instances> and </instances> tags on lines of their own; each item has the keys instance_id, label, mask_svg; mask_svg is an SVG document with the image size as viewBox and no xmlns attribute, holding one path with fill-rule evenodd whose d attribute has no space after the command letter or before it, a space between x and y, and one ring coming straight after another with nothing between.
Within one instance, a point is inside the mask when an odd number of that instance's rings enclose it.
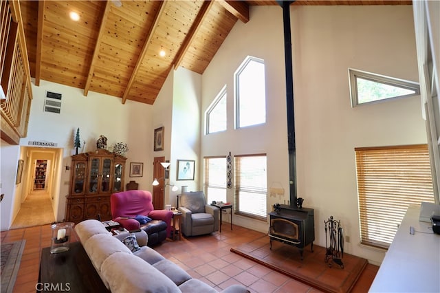
<instances>
[{"instance_id":1,"label":"narrower lower window with blinds, behind the small side table","mask_svg":"<svg viewBox=\"0 0 440 293\"><path fill-rule=\"evenodd\" d=\"M205 157L205 194L208 203L226 198L226 157Z\"/></svg>"}]
</instances>

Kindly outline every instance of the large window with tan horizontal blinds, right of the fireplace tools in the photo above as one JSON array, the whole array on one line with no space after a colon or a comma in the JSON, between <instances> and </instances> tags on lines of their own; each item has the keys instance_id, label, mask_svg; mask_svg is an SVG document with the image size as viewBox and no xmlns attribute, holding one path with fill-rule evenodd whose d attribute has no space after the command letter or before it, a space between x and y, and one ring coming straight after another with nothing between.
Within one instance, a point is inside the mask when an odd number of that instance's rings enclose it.
<instances>
[{"instance_id":1,"label":"large window with tan horizontal blinds, right of the fireplace tools","mask_svg":"<svg viewBox=\"0 0 440 293\"><path fill-rule=\"evenodd\" d=\"M388 248L409 204L434 202L428 146L355 148L361 243Z\"/></svg>"}]
</instances>

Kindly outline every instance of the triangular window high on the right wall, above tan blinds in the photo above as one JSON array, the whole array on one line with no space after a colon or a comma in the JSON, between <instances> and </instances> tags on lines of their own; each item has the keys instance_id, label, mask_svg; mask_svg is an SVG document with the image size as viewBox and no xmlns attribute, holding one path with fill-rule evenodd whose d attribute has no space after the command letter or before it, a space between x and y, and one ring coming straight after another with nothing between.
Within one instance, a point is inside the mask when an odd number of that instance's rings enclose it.
<instances>
[{"instance_id":1,"label":"triangular window high on the right wall, above tan blinds","mask_svg":"<svg viewBox=\"0 0 440 293\"><path fill-rule=\"evenodd\" d=\"M349 69L351 107L420 94L418 83Z\"/></svg>"}]
</instances>

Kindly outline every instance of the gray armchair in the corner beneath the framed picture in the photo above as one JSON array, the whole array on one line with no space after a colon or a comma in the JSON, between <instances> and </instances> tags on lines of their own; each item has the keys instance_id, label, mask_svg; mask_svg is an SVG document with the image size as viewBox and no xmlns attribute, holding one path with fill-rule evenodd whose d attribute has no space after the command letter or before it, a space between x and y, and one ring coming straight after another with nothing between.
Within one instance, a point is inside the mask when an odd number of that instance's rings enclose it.
<instances>
[{"instance_id":1,"label":"gray armchair in the corner beneath the framed picture","mask_svg":"<svg viewBox=\"0 0 440 293\"><path fill-rule=\"evenodd\" d=\"M203 191L177 196L181 229L186 236L209 234L219 230L219 208L206 204Z\"/></svg>"}]
</instances>

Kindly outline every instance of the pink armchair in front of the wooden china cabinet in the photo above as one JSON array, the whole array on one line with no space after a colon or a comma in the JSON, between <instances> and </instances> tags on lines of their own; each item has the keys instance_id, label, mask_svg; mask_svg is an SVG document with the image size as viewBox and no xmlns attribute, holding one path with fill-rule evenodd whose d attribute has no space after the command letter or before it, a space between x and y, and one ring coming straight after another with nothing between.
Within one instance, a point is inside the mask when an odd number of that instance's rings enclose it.
<instances>
[{"instance_id":1,"label":"pink armchair in front of the wooden china cabinet","mask_svg":"<svg viewBox=\"0 0 440 293\"><path fill-rule=\"evenodd\" d=\"M155 210L152 196L149 191L122 191L113 193L110 197L111 216L126 230L144 230L148 235L148 246L154 246L169 237L171 234L170 210ZM146 224L140 224L136 216L151 218Z\"/></svg>"}]
</instances>

